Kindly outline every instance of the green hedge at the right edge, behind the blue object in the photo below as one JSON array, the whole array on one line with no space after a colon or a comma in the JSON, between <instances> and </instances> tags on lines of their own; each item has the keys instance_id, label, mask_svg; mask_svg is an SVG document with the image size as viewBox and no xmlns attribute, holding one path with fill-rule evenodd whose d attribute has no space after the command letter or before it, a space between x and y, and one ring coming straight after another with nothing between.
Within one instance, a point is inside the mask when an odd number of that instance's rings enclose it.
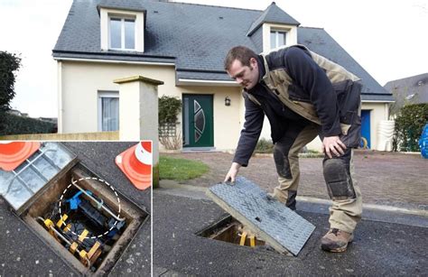
<instances>
[{"instance_id":1,"label":"green hedge at the right edge, behind the blue object","mask_svg":"<svg viewBox=\"0 0 428 277\"><path fill-rule=\"evenodd\" d=\"M395 118L394 151L420 151L418 141L427 123L427 103L403 106Z\"/></svg>"}]
</instances>

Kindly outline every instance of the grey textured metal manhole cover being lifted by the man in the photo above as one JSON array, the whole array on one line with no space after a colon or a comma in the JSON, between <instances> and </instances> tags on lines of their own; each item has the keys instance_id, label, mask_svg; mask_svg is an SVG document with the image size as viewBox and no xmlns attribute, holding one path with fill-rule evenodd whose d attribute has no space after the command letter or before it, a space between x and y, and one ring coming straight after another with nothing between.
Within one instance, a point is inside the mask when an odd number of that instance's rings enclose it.
<instances>
[{"instance_id":1,"label":"grey textured metal manhole cover being lifted by the man","mask_svg":"<svg viewBox=\"0 0 428 277\"><path fill-rule=\"evenodd\" d=\"M283 203L268 198L264 190L244 177L238 177L235 185L215 185L207 190L207 195L279 253L299 254L315 229L312 223Z\"/></svg>"}]
</instances>

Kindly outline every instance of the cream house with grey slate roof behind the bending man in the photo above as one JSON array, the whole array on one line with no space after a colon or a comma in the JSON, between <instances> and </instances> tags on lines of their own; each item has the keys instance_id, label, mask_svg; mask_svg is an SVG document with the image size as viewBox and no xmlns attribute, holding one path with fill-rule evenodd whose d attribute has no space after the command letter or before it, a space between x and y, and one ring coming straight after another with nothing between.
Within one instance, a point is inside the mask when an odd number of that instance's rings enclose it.
<instances>
[{"instance_id":1,"label":"cream house with grey slate roof behind the bending man","mask_svg":"<svg viewBox=\"0 0 428 277\"><path fill-rule=\"evenodd\" d=\"M321 28L300 23L272 3L265 11L142 0L74 1L53 59L58 64L59 132L118 128L116 78L164 82L179 97L183 149L233 150L244 124L241 89L223 69L230 48L256 52L302 43L362 78L363 124L376 142L390 93ZM269 137L265 120L263 136ZM376 143L374 143L376 145Z\"/></svg>"}]
</instances>

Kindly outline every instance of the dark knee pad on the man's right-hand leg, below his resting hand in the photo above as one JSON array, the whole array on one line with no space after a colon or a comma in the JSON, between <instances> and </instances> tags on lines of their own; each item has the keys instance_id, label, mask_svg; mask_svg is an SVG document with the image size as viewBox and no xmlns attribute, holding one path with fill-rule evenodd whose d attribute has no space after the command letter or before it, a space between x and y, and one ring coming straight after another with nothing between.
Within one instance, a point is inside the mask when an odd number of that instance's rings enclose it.
<instances>
[{"instance_id":1,"label":"dark knee pad on the man's right-hand leg, below his resting hand","mask_svg":"<svg viewBox=\"0 0 428 277\"><path fill-rule=\"evenodd\" d=\"M324 179L330 199L356 199L354 186L349 174L349 166L343 160L326 160L324 162Z\"/></svg>"}]
</instances>

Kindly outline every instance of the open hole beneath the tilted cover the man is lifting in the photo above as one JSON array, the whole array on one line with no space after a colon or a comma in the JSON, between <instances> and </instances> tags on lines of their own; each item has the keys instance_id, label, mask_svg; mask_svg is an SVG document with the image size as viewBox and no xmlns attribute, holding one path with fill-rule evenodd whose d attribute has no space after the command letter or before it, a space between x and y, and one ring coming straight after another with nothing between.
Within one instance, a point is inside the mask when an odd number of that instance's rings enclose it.
<instances>
[{"instance_id":1,"label":"open hole beneath the tilted cover the man is lifting","mask_svg":"<svg viewBox=\"0 0 428 277\"><path fill-rule=\"evenodd\" d=\"M242 223L229 214L222 215L212 224L198 231L196 235L234 245L256 248L264 246L263 248L273 250L272 247L266 245L264 240L259 239L245 226L243 226Z\"/></svg>"}]
</instances>

